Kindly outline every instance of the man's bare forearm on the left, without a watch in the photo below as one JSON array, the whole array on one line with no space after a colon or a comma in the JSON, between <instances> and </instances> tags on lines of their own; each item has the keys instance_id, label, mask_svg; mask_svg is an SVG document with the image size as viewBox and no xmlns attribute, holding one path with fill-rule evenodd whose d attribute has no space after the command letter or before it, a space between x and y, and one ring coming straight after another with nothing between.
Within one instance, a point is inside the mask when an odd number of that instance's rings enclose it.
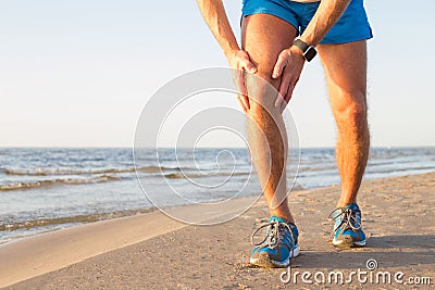
<instances>
[{"instance_id":1,"label":"man's bare forearm on the left, without a watch","mask_svg":"<svg viewBox=\"0 0 435 290\"><path fill-rule=\"evenodd\" d=\"M225 55L228 58L231 53L239 50L222 0L197 0L197 3L207 25Z\"/></svg>"}]
</instances>

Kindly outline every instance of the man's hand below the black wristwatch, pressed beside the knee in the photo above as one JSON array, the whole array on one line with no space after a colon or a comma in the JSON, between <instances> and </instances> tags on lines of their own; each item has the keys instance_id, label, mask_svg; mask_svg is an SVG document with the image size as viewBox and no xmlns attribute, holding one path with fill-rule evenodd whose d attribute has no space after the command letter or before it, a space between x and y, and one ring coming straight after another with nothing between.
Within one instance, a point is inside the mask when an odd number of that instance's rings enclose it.
<instances>
[{"instance_id":1,"label":"man's hand below the black wristwatch, pressed beside the knee","mask_svg":"<svg viewBox=\"0 0 435 290\"><path fill-rule=\"evenodd\" d=\"M273 68L272 77L278 78L281 76L279 94L276 98L275 106L281 108L282 112L284 112L284 109L291 99L293 91L299 80L300 73L302 72L304 61L306 59L302 52L296 47L285 49L278 55L278 60Z\"/></svg>"}]
</instances>

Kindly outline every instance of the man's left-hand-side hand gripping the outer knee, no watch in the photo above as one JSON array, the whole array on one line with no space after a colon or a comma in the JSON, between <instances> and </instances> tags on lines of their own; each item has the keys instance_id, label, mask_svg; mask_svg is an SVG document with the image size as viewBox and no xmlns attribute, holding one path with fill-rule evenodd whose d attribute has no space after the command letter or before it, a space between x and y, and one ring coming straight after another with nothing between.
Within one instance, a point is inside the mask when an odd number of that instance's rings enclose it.
<instances>
[{"instance_id":1,"label":"man's left-hand-side hand gripping the outer knee, no watch","mask_svg":"<svg viewBox=\"0 0 435 290\"><path fill-rule=\"evenodd\" d=\"M237 70L236 75L233 76L237 91L240 92L240 94L237 94L237 100L240 103L241 109L246 113L250 109L250 105L248 90L245 86L244 72L246 71L248 73L254 74L257 73L257 67L250 61L249 54L245 50L237 50L233 54L231 54L228 58L228 63L232 68Z\"/></svg>"}]
</instances>

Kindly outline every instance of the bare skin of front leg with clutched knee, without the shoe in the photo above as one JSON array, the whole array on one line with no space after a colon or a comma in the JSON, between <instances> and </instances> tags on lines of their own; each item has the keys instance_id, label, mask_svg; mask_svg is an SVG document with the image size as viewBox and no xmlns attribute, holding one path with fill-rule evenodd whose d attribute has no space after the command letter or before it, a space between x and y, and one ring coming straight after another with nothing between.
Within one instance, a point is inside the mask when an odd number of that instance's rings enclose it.
<instances>
[{"instance_id":1,"label":"bare skin of front leg with clutched knee, without the shoe","mask_svg":"<svg viewBox=\"0 0 435 290\"><path fill-rule=\"evenodd\" d=\"M291 46L296 28L269 15L254 14L243 22L243 46L258 68L257 75L278 88L272 79L278 54ZM266 83L247 77L251 98L248 116L249 146L270 214L295 223L289 212L286 184L287 136L279 109L274 106L276 92Z\"/></svg>"}]
</instances>

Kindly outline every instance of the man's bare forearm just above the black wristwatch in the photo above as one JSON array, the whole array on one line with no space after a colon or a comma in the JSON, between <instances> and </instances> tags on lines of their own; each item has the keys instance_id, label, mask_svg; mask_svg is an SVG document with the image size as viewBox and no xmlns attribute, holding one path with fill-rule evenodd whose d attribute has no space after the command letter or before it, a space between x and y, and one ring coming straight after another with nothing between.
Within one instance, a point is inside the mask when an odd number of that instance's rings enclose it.
<instances>
[{"instance_id":1,"label":"man's bare forearm just above the black wristwatch","mask_svg":"<svg viewBox=\"0 0 435 290\"><path fill-rule=\"evenodd\" d=\"M322 0L319 9L300 36L310 46L316 46L345 12L350 0Z\"/></svg>"}]
</instances>

